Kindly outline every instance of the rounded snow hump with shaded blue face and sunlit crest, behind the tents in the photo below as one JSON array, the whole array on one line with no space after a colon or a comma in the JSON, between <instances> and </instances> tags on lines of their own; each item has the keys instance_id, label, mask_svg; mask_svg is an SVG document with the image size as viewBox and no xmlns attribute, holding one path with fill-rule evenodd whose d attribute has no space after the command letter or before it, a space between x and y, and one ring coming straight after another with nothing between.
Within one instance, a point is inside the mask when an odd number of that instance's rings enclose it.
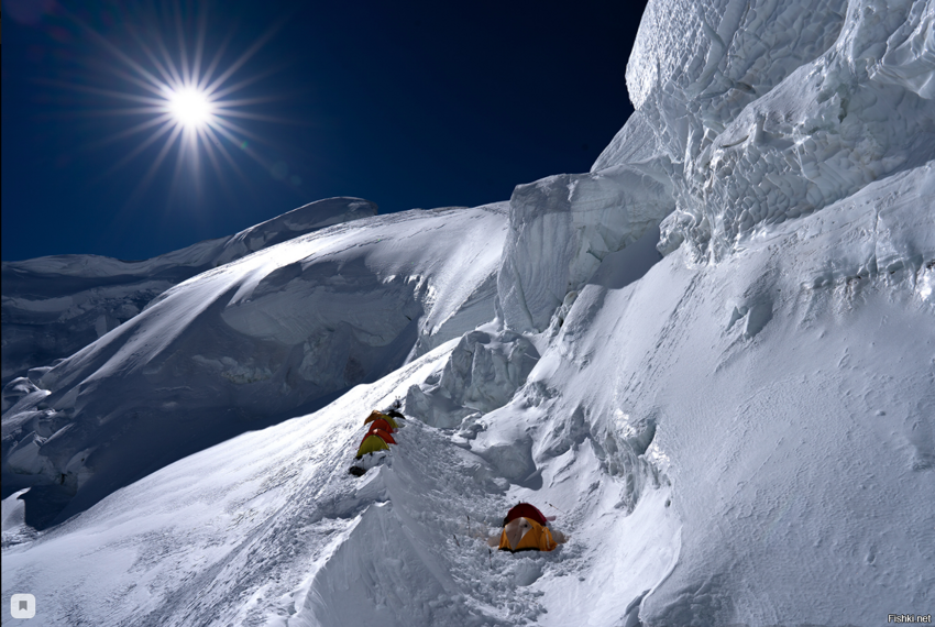
<instances>
[{"instance_id":1,"label":"rounded snow hump with shaded blue face and sunlit crest, behind the tents","mask_svg":"<svg viewBox=\"0 0 935 627\"><path fill-rule=\"evenodd\" d=\"M490 320L505 227L501 206L356 220L165 292L10 384L23 396L3 415L4 495L36 486L26 516L47 525Z\"/></svg>"}]
</instances>

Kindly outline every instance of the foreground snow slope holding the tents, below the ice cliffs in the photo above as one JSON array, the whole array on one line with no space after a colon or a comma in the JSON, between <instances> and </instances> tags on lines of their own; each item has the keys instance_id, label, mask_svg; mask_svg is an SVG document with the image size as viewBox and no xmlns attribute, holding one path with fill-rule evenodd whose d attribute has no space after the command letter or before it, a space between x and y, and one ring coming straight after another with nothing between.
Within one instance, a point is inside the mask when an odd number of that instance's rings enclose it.
<instances>
[{"instance_id":1,"label":"foreground snow slope holding the tents, below the ice cliffs","mask_svg":"<svg viewBox=\"0 0 935 627\"><path fill-rule=\"evenodd\" d=\"M917 210L932 209L933 180L930 166L875 184L723 264L676 252L624 287L616 253L499 409L457 431L410 419L383 466L346 474L370 408L443 372L452 340L37 538L8 534L4 595L37 593L47 625L925 613L935 519L913 495L935 487L935 263L857 273L876 251L933 258ZM879 198L900 200L873 230ZM855 242L846 263L829 256ZM488 554L482 538L517 499L557 514L572 540Z\"/></svg>"}]
</instances>

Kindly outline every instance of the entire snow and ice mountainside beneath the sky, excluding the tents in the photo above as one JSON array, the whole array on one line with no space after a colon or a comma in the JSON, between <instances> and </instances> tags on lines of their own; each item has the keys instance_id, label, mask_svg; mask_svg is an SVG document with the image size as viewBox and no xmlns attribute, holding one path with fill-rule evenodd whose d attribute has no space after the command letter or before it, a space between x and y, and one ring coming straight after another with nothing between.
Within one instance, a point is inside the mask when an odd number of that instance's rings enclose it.
<instances>
[{"instance_id":1,"label":"entire snow and ice mountainside beneath the sky, excluding the tents","mask_svg":"<svg viewBox=\"0 0 935 627\"><path fill-rule=\"evenodd\" d=\"M62 626L931 614L935 0L652 0L627 85L637 112L592 170L508 205L321 201L145 304L155 260L4 264L4 607L31 593ZM95 276L116 292L90 298ZM102 334L53 356L43 324L66 338L79 309ZM397 444L353 476L363 420L396 400ZM519 501L570 541L491 551Z\"/></svg>"}]
</instances>

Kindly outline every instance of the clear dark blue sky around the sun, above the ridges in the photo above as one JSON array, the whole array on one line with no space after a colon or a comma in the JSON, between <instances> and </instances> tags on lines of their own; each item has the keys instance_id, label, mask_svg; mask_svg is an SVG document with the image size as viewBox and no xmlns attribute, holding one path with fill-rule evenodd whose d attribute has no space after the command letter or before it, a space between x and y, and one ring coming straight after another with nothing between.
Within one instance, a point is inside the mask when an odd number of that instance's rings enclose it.
<instances>
[{"instance_id":1,"label":"clear dark blue sky around the sun, above the ridges","mask_svg":"<svg viewBox=\"0 0 935 627\"><path fill-rule=\"evenodd\" d=\"M278 26L226 82L253 79L230 97L263 119L231 118L250 135L219 136L220 172L176 146L141 187L169 133L142 151L158 127L120 136L155 114L120 111L145 91L114 51L155 74L144 46L180 64L182 40L190 62L204 8L3 2L4 261L146 258L330 196L381 213L506 200L587 170L631 112L641 3L215 2L202 67L230 36L216 74Z\"/></svg>"}]
</instances>

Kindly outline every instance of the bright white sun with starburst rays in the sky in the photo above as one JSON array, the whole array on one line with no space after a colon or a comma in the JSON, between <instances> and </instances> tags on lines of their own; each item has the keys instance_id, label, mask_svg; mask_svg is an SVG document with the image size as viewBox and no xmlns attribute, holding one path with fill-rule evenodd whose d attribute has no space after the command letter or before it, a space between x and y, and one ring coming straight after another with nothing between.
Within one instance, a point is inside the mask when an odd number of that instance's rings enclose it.
<instances>
[{"instance_id":1,"label":"bright white sun with starburst rays in the sky","mask_svg":"<svg viewBox=\"0 0 935 627\"><path fill-rule=\"evenodd\" d=\"M127 201L128 207L147 193L166 165L173 170L172 182L166 186L169 202L179 189L179 179L186 176L200 196L205 156L222 183L221 188L230 195L230 185L224 182L231 175L239 182L248 178L238 165L241 157L237 155L268 167L267 160L253 148L253 144L264 143L263 134L250 132L234 120L288 123L268 111L255 110L257 105L278 99L256 92L260 81L276 70L270 64L260 68L250 66L286 19L246 45L238 44L233 29L217 45L211 45L207 3L197 10L191 10L190 4L185 10L179 2L162 7L162 11L124 15L123 38L117 41L70 15L98 50L106 52L103 59L96 59L98 79L48 81L84 94L89 102L95 102L80 114L109 118L111 125L118 120L130 120L87 146L127 143L125 152L98 180L131 163L148 160L144 164L145 174Z\"/></svg>"}]
</instances>

